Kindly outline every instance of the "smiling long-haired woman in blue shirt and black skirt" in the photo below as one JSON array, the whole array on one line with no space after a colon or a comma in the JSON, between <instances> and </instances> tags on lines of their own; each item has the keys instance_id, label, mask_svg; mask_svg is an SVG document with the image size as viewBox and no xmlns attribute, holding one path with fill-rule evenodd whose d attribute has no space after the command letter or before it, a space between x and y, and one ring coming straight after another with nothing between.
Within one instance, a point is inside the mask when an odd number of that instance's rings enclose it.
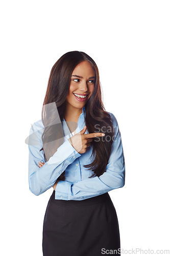
<instances>
[{"instance_id":1,"label":"smiling long-haired woman in blue shirt and black skirt","mask_svg":"<svg viewBox=\"0 0 170 256\"><path fill-rule=\"evenodd\" d=\"M123 145L117 120L102 102L98 67L86 53L67 52L53 66L31 136L30 190L40 195L54 188L43 222L43 255L119 254L108 191L125 184Z\"/></svg>"}]
</instances>

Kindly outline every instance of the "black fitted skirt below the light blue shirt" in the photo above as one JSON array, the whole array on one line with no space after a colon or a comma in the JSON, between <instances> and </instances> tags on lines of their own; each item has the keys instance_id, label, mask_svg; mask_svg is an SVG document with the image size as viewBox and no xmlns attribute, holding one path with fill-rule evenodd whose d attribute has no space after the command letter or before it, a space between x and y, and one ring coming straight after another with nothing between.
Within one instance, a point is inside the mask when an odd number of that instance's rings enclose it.
<instances>
[{"instance_id":1,"label":"black fitted skirt below the light blue shirt","mask_svg":"<svg viewBox=\"0 0 170 256\"><path fill-rule=\"evenodd\" d=\"M43 222L44 256L101 256L110 250L120 255L119 248L117 214L108 193L66 201L56 200L53 191Z\"/></svg>"}]
</instances>

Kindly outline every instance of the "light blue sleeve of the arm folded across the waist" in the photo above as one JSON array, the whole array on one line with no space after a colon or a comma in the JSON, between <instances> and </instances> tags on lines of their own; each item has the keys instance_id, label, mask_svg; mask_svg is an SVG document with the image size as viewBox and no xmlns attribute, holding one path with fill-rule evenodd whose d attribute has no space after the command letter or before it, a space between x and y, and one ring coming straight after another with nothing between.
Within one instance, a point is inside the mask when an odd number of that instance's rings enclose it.
<instances>
[{"instance_id":1,"label":"light blue sleeve of the arm folded across the waist","mask_svg":"<svg viewBox=\"0 0 170 256\"><path fill-rule=\"evenodd\" d=\"M60 180L56 186L55 199L84 200L125 185L125 159L121 134L117 120L112 113L111 117L116 133L106 172L100 177L96 176L75 183Z\"/></svg>"}]
</instances>

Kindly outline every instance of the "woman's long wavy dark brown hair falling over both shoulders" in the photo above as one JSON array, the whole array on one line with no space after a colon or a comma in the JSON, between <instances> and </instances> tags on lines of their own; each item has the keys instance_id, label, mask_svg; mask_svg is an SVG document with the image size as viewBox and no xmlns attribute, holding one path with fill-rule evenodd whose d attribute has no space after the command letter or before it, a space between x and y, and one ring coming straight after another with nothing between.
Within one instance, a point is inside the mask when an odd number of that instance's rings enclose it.
<instances>
[{"instance_id":1,"label":"woman's long wavy dark brown hair falling over both shoulders","mask_svg":"<svg viewBox=\"0 0 170 256\"><path fill-rule=\"evenodd\" d=\"M85 105L84 114L87 131L88 133L94 133L95 125L98 124L98 132L105 133L105 137L98 137L97 141L93 140L91 142L91 156L95 156L95 158L92 163L84 165L84 167L92 170L93 174L89 177L91 178L93 176L101 176L106 170L111 154L114 127L112 125L111 116L106 112L102 102L98 67L94 60L84 52L71 51L65 53L57 60L51 70L41 113L42 122L45 127L42 134L43 147L41 150L44 151L44 159L46 162L54 155L57 148L64 142L61 121L63 120L65 113L65 102L66 96L69 92L70 77L76 66L82 61L88 61L95 72L94 90ZM61 121L56 121L54 107L45 107L47 105L51 105L50 103L55 104L55 108L57 107L58 116ZM109 129L104 131L102 130L102 127L109 127ZM108 138L108 136L111 139L107 141L106 138ZM58 179L65 180L65 170Z\"/></svg>"}]
</instances>

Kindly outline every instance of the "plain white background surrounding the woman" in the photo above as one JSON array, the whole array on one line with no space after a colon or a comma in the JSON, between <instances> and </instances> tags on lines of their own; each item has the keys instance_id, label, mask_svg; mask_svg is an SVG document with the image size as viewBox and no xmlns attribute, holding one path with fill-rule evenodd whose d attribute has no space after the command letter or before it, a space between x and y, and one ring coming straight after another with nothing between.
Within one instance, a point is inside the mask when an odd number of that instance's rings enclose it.
<instances>
[{"instance_id":1,"label":"plain white background surrounding the woman","mask_svg":"<svg viewBox=\"0 0 170 256\"><path fill-rule=\"evenodd\" d=\"M150 0L1 2L1 255L42 256L53 188L30 192L25 139L41 118L54 63L75 50L98 65L106 111L122 135L126 184L109 192L121 248L170 249L169 7Z\"/></svg>"}]
</instances>

